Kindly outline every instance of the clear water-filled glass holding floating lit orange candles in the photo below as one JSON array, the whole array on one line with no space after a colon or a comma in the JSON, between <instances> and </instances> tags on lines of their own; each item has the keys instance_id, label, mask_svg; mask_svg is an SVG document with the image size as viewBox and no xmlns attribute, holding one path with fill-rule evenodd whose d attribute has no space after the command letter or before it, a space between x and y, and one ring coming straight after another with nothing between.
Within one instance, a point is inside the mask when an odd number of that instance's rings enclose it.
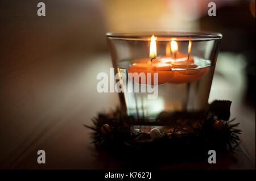
<instances>
[{"instance_id":1,"label":"clear water-filled glass holding floating lit orange candles","mask_svg":"<svg viewBox=\"0 0 256 181\"><path fill-rule=\"evenodd\" d=\"M122 110L140 129L196 125L205 116L220 33L106 33Z\"/></svg>"}]
</instances>

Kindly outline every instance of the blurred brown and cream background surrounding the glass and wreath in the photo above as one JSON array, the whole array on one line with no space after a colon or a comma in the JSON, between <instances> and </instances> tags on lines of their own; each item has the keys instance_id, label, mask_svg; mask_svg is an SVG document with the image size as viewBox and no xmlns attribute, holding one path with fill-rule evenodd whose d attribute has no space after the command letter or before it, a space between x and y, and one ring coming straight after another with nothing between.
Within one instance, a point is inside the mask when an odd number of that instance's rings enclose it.
<instances>
[{"instance_id":1,"label":"blurred brown and cream background surrounding the glass and wreath","mask_svg":"<svg viewBox=\"0 0 256 181\"><path fill-rule=\"evenodd\" d=\"M118 105L116 93L96 91L97 73L112 66L105 33L181 30L222 33L209 102L232 100L253 165L226 168L255 169L255 1L44 0L40 17L38 2L0 2L0 168L115 167L93 157L82 126ZM36 163L39 149L48 164Z\"/></svg>"}]
</instances>

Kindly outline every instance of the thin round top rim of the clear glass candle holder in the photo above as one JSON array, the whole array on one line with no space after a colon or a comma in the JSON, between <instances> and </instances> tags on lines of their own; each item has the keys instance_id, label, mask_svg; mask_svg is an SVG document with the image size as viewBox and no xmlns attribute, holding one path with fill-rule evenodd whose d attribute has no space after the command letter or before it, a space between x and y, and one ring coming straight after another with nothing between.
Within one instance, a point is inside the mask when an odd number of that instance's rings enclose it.
<instances>
[{"instance_id":1,"label":"thin round top rim of the clear glass candle holder","mask_svg":"<svg viewBox=\"0 0 256 181\"><path fill-rule=\"evenodd\" d=\"M107 32L106 37L118 40L148 41L151 36L156 37L156 41L209 41L220 40L222 34L218 32L188 32L188 31L138 31L138 32Z\"/></svg>"}]
</instances>

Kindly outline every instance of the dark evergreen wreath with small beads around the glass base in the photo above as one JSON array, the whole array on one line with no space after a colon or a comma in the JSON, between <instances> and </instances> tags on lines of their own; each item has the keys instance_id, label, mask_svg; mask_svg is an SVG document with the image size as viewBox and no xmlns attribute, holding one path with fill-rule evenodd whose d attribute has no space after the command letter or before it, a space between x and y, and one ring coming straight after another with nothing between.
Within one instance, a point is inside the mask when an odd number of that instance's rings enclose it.
<instances>
[{"instance_id":1,"label":"dark evergreen wreath with small beads around the glass base","mask_svg":"<svg viewBox=\"0 0 256 181\"><path fill-rule=\"evenodd\" d=\"M208 105L204 121L196 126L188 125L190 129L172 128L168 132L161 132L157 128L150 133L140 129L131 129L134 118L127 116L118 108L109 113L99 113L92 119L93 125L85 127L93 130L93 143L98 149L109 150L121 155L137 155L140 157L180 158L181 155L207 155L208 150L233 150L240 143L237 129L239 123L233 124L235 119L229 120L229 100L215 100ZM143 137L150 140L141 141ZM189 153L189 154L188 154Z\"/></svg>"}]
</instances>

